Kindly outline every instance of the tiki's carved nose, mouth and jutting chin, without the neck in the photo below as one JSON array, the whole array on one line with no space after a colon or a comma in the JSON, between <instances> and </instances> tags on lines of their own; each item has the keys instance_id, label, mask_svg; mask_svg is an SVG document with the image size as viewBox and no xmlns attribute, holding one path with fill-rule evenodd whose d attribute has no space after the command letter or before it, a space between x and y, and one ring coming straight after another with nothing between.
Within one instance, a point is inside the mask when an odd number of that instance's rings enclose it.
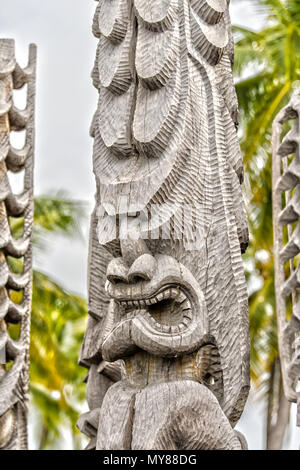
<instances>
[{"instance_id":1,"label":"tiki's carved nose, mouth and jutting chin, without the neck","mask_svg":"<svg viewBox=\"0 0 300 470\"><path fill-rule=\"evenodd\" d=\"M135 249L144 245L144 253ZM141 349L164 357L197 350L208 341L208 317L199 283L174 257L151 255L144 242L123 243L124 256L107 268L114 327L102 353L112 361ZM132 253L138 256L132 264Z\"/></svg>"}]
</instances>

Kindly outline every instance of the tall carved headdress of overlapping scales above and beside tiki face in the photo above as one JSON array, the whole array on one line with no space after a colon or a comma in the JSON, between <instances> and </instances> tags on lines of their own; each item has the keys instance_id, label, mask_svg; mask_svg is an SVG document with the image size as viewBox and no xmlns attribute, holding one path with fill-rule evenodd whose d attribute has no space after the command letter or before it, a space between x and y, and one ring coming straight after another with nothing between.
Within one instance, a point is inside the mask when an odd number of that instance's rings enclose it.
<instances>
[{"instance_id":1,"label":"tall carved headdress of overlapping scales above and beside tiki face","mask_svg":"<svg viewBox=\"0 0 300 470\"><path fill-rule=\"evenodd\" d=\"M200 207L195 217L204 234L203 265L193 266L191 252L182 256L205 294L224 371L222 407L235 424L249 389L248 307L241 259L248 226L240 187L243 164L236 133L228 3L99 2L93 25L99 45L92 72L99 105L91 134L96 207L106 215L98 217L95 212L98 224L94 219L91 237L101 245L115 240L113 220L122 213L124 195L134 211L147 212L155 204L153 229L170 219L178 228L172 209L176 205ZM91 259L100 250L96 242L93 246ZM164 246L159 248L162 252ZM176 257L176 250L171 255ZM104 266L102 273L90 270L93 292L104 279ZM101 312L103 302L99 301ZM89 342L87 333L87 349ZM82 362L88 361L91 355L82 354Z\"/></svg>"}]
</instances>

